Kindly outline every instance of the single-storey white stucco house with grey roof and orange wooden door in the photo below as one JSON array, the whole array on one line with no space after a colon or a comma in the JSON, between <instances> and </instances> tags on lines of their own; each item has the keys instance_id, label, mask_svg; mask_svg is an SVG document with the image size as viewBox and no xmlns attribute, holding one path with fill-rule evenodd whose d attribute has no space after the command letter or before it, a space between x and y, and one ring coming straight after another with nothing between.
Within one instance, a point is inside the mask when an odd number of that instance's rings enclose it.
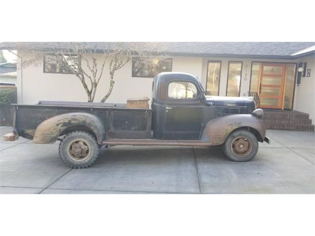
<instances>
[{"instance_id":1,"label":"single-storey white stucco house with grey roof and orange wooden door","mask_svg":"<svg viewBox=\"0 0 315 236\"><path fill-rule=\"evenodd\" d=\"M38 65L26 68L20 63L29 56L23 47L19 48L19 103L87 100L76 76L49 58L49 48L57 45L66 48L67 44L25 43L25 47L33 45L47 51ZM88 45L97 50L101 43L89 42ZM314 130L315 42L160 42L158 45L163 47L160 51L167 58L152 59L140 70L134 70L136 61L129 61L116 72L115 86L106 102L126 103L127 98L150 97L157 73L180 71L198 77L207 95L253 96L256 104L265 110L267 128ZM16 50L16 43L0 43L1 49ZM108 68L103 77L95 102L100 101L109 88Z\"/></svg>"}]
</instances>

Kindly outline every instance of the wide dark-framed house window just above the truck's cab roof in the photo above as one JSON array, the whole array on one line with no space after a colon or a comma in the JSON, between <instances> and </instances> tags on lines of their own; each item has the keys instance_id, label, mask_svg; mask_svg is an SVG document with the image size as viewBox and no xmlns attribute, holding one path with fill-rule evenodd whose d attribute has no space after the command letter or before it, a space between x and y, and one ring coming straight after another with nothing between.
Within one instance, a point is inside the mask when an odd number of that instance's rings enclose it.
<instances>
[{"instance_id":1,"label":"wide dark-framed house window just above the truck's cab roof","mask_svg":"<svg viewBox=\"0 0 315 236\"><path fill-rule=\"evenodd\" d=\"M132 77L154 78L158 73L172 71L172 59L132 59Z\"/></svg>"}]
</instances>

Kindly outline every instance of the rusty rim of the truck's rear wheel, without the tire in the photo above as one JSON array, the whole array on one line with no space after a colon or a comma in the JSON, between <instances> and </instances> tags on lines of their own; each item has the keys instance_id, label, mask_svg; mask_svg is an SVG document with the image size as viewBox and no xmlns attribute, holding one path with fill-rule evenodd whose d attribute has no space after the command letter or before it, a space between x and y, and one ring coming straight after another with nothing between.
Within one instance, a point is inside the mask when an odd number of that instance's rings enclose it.
<instances>
[{"instance_id":1,"label":"rusty rim of the truck's rear wheel, without the tire","mask_svg":"<svg viewBox=\"0 0 315 236\"><path fill-rule=\"evenodd\" d=\"M91 145L83 139L77 139L69 144L67 150L73 160L84 161L91 154Z\"/></svg>"}]
</instances>

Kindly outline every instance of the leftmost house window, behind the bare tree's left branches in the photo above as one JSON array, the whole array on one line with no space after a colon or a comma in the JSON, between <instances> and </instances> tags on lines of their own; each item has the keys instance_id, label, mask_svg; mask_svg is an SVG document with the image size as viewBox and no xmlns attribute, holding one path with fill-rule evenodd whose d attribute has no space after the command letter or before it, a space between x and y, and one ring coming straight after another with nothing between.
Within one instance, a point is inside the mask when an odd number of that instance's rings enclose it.
<instances>
[{"instance_id":1,"label":"leftmost house window, behind the bare tree's left branches","mask_svg":"<svg viewBox=\"0 0 315 236\"><path fill-rule=\"evenodd\" d=\"M64 56L64 58L67 62L64 61L62 56L44 56L44 73L74 74L68 64L73 64L77 56Z\"/></svg>"}]
</instances>

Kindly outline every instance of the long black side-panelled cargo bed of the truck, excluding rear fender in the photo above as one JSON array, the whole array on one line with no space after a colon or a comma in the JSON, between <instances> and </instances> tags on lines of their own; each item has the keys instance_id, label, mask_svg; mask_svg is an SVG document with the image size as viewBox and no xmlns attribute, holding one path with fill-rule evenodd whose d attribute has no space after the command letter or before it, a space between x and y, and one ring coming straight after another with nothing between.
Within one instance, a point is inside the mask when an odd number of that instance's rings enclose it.
<instances>
[{"instance_id":1,"label":"long black side-panelled cargo bed of the truck, excluding rear fender","mask_svg":"<svg viewBox=\"0 0 315 236\"><path fill-rule=\"evenodd\" d=\"M90 113L105 127L106 138L153 137L152 110L126 108L126 104L40 101L35 105L12 104L16 110L14 128L20 136L32 139L37 126L44 120L65 113Z\"/></svg>"}]
</instances>

